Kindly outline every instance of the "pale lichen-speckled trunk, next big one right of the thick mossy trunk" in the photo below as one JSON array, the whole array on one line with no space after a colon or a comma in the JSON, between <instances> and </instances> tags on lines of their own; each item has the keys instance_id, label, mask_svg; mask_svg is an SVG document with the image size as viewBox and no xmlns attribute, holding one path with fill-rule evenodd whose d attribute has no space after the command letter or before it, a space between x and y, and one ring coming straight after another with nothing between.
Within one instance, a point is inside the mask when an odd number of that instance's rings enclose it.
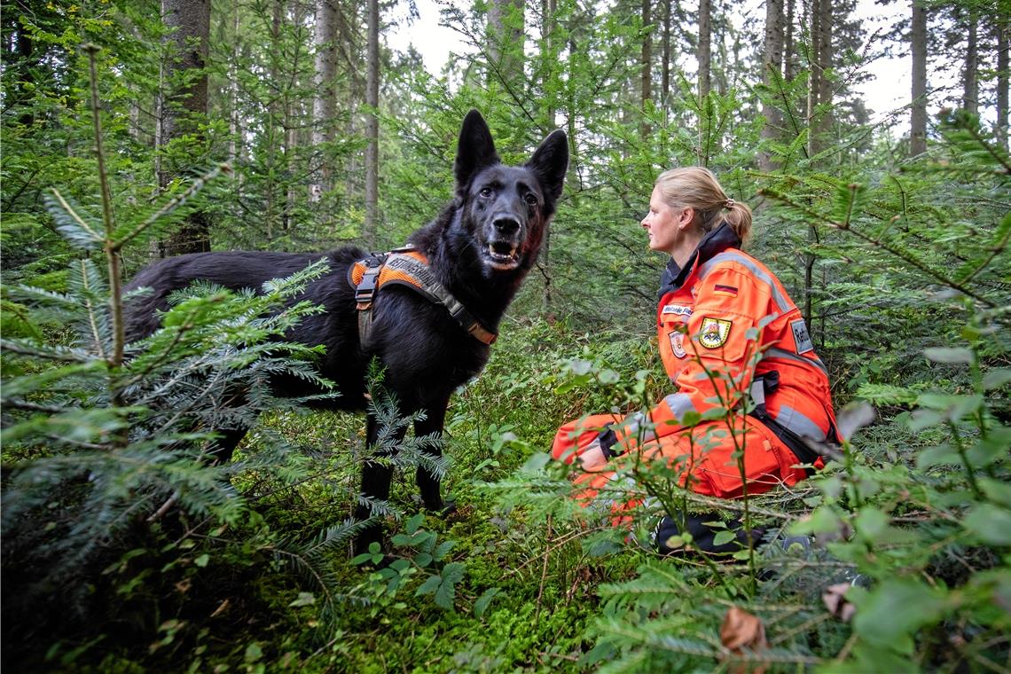
<instances>
[{"instance_id":1,"label":"pale lichen-speckled trunk, next big one right of the thick mossy trunk","mask_svg":"<svg viewBox=\"0 0 1011 674\"><path fill-rule=\"evenodd\" d=\"M312 182L309 184L309 201L317 202L323 193L333 186L331 167L326 160L323 146L334 139L334 117L337 114L337 96L334 82L337 78L337 12L332 0L316 0L315 31L315 98L312 99Z\"/></svg>"}]
</instances>

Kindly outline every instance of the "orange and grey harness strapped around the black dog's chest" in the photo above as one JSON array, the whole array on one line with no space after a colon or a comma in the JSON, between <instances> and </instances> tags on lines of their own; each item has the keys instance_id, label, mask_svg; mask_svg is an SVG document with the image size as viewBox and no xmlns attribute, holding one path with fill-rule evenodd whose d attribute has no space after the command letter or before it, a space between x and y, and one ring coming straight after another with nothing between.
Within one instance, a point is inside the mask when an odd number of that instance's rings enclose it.
<instances>
[{"instance_id":1,"label":"orange and grey harness strapped around the black dog's chest","mask_svg":"<svg viewBox=\"0 0 1011 674\"><path fill-rule=\"evenodd\" d=\"M390 284L406 286L432 303L445 306L454 320L478 342L490 346L498 339L436 279L428 258L412 246L359 260L348 269L348 282L355 289L362 344L365 344L372 322L372 301L383 286Z\"/></svg>"}]
</instances>

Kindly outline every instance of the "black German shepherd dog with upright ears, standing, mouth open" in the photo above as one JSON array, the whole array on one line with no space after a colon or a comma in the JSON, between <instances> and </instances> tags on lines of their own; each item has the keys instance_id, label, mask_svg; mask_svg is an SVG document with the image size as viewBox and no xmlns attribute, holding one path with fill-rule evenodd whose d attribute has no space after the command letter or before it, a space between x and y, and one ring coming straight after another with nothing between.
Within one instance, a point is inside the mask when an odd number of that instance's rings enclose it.
<instances>
[{"instance_id":1,"label":"black German shepherd dog with upright ears, standing, mouth open","mask_svg":"<svg viewBox=\"0 0 1011 674\"><path fill-rule=\"evenodd\" d=\"M521 167L499 162L487 124L476 110L463 120L454 172L456 194L428 225L415 231L408 244L423 253L431 272L489 331L496 332L507 307L524 277L537 260L548 222L555 212L568 167L565 133L548 135ZM309 346L323 345L319 364L324 377L336 382L339 395L321 403L332 409L366 407L365 376L377 357L385 368L384 386L401 412L424 410L415 424L417 436L442 434L450 395L480 372L489 347L468 333L444 305L435 304L413 290L389 285L375 295L371 326L363 344L359 339L355 289L347 280L349 267L368 254L342 248L326 254L330 271L311 281L304 295L324 306L324 313L302 318L288 339ZM150 287L127 307L127 336L139 339L159 327L159 310L168 308L167 296L195 280L225 288L259 289L270 279L289 276L318 260L320 254L201 253L169 258L140 272L128 289ZM300 396L304 382L274 383L279 395ZM315 403L319 404L319 403ZM220 429L215 454L227 461L246 434L245 428ZM376 420L368 418L367 442L376 443ZM438 449L431 450L438 453ZM362 495L385 500L392 471L380 462L367 461L362 471ZM427 508L445 504L436 476L419 468L418 486ZM360 503L358 520L369 516ZM364 529L355 548L381 541L381 525Z\"/></svg>"}]
</instances>

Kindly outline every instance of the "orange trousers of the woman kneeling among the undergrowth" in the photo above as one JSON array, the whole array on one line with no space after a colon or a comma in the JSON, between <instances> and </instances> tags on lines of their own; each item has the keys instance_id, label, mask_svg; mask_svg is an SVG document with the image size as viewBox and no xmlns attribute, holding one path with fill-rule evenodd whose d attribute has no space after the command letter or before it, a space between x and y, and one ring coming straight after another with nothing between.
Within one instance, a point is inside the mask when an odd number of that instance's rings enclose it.
<instances>
[{"instance_id":1,"label":"orange trousers of the woman kneeling among the undergrowth","mask_svg":"<svg viewBox=\"0 0 1011 674\"><path fill-rule=\"evenodd\" d=\"M569 421L558 429L551 455L556 460L571 464L593 443L606 424L618 425L621 421L622 417L614 414L592 414ZM738 415L732 423L733 432L725 420L706 421L693 428L644 442L640 448L631 450L623 457L616 457L608 464L579 475L576 484L584 489L576 498L584 501L584 506L589 505L602 490L618 487L611 484L616 476L615 462L628 461L636 452L641 452L643 461L666 461L678 476L680 486L719 498L739 498L744 494L745 482L750 495L768 491L778 484L792 486L807 477L790 448L760 421ZM743 449L743 476L733 456L738 449ZM615 446L613 451L617 453L623 449ZM610 495L603 498L611 502L615 510L628 510L638 504L635 499L617 503Z\"/></svg>"}]
</instances>

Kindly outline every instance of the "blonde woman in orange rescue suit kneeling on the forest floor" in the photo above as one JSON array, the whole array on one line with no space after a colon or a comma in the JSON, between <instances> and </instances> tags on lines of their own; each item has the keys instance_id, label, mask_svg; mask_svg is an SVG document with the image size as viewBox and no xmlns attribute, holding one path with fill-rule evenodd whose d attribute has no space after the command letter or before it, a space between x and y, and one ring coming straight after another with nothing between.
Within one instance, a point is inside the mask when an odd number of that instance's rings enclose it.
<instances>
[{"instance_id":1,"label":"blonde woman in orange rescue suit kneeling on the forest floor","mask_svg":"<svg viewBox=\"0 0 1011 674\"><path fill-rule=\"evenodd\" d=\"M579 497L587 501L609 487L621 457L663 459L682 486L720 498L803 480L822 466L806 439L836 440L828 372L783 284L740 250L751 209L729 199L708 169L672 169L657 178L642 226L650 249L670 256L656 324L674 391L646 413L566 423L552 455L578 459L587 471ZM696 547L723 552L703 523L713 519L664 517L654 532L660 552L685 527Z\"/></svg>"}]
</instances>

